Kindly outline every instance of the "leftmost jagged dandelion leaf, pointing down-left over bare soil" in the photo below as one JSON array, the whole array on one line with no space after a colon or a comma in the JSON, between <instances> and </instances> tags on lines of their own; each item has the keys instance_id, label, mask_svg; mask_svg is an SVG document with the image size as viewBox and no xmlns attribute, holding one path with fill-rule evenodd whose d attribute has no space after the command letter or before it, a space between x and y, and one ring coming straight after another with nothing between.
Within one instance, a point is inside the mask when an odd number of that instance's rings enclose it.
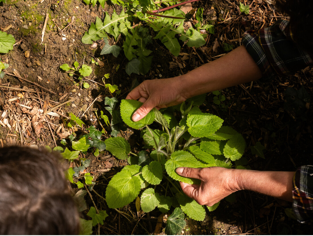
<instances>
[{"instance_id":1,"label":"leftmost jagged dandelion leaf, pointing down-left over bare soil","mask_svg":"<svg viewBox=\"0 0 313 236\"><path fill-rule=\"evenodd\" d=\"M96 17L96 23L91 23L88 33L85 32L81 39L82 43L92 44L95 40L105 38L105 32L112 34L116 39L121 33L121 29L119 28L118 24L126 21L128 16L129 15L124 11L122 11L120 15L117 15L114 9L112 17L110 17L107 12L105 13L105 19L103 22L99 17Z\"/></svg>"}]
</instances>

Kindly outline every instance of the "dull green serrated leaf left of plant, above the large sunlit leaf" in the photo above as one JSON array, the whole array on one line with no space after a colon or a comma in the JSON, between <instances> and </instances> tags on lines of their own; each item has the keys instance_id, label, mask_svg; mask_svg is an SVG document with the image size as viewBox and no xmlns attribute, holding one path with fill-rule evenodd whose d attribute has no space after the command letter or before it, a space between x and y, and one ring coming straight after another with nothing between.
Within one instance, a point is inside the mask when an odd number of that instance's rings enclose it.
<instances>
[{"instance_id":1,"label":"dull green serrated leaf left of plant, above the large sunlit leaf","mask_svg":"<svg viewBox=\"0 0 313 236\"><path fill-rule=\"evenodd\" d=\"M120 160L125 160L131 152L131 146L122 137L111 137L104 142L106 149Z\"/></svg>"}]
</instances>

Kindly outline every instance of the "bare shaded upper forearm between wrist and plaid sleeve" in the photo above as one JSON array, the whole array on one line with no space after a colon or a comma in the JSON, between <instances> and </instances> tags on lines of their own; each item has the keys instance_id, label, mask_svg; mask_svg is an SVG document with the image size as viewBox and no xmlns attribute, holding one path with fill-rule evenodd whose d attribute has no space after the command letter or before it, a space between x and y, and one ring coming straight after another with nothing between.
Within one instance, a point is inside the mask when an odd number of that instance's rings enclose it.
<instances>
[{"instance_id":1,"label":"bare shaded upper forearm between wrist and plaid sleeve","mask_svg":"<svg viewBox=\"0 0 313 236\"><path fill-rule=\"evenodd\" d=\"M262 74L244 46L180 76L181 90L193 97L234 85L255 81Z\"/></svg>"}]
</instances>

